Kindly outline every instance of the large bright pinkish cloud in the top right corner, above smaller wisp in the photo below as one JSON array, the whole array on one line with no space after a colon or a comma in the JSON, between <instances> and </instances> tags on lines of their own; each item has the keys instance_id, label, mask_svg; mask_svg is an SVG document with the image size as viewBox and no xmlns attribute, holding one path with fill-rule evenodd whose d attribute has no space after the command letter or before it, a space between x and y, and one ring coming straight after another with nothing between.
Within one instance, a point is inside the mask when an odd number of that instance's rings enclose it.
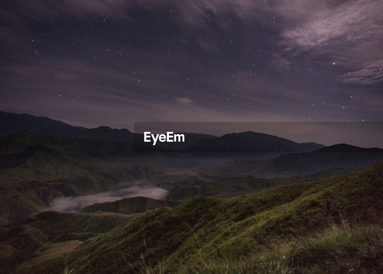
<instances>
[{"instance_id":1,"label":"large bright pinkish cloud in the top right corner, above smaller wisp","mask_svg":"<svg viewBox=\"0 0 383 274\"><path fill-rule=\"evenodd\" d=\"M376 43L383 37L383 2L358 0L347 2L334 9L314 14L312 20L296 28L285 30L282 37L301 49L326 46L333 39L364 43L366 39Z\"/></svg>"}]
</instances>

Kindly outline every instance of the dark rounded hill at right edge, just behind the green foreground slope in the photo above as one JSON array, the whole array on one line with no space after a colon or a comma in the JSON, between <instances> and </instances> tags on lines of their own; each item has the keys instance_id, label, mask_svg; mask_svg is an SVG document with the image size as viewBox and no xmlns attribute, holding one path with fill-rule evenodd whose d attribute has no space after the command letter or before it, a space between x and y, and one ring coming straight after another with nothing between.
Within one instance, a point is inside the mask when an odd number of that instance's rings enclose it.
<instances>
[{"instance_id":1,"label":"dark rounded hill at right edge, just behind the green foreground slope","mask_svg":"<svg viewBox=\"0 0 383 274\"><path fill-rule=\"evenodd\" d=\"M206 171L210 175L255 175L260 178L285 177L337 168L355 169L383 160L383 149L337 144L313 152L290 153L267 160L236 160Z\"/></svg>"}]
</instances>

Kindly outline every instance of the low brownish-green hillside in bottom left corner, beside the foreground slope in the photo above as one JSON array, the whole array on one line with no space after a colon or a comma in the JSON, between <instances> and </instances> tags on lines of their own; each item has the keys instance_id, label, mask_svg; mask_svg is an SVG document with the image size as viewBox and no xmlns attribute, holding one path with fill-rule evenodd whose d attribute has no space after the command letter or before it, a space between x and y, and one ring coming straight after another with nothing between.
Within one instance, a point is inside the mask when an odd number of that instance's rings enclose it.
<instances>
[{"instance_id":1,"label":"low brownish-green hillside in bottom left corner, beside the foreground slope","mask_svg":"<svg viewBox=\"0 0 383 274\"><path fill-rule=\"evenodd\" d=\"M9 273L18 262L36 254L51 256L50 249L58 246L74 246L67 243L82 243L86 239L106 233L126 223L134 215L109 212L61 213L46 211L34 215L22 224L0 234L0 273ZM34 254L37 252L36 254ZM6 259L6 260L5 260ZM8 269L8 271L4 271Z\"/></svg>"}]
</instances>

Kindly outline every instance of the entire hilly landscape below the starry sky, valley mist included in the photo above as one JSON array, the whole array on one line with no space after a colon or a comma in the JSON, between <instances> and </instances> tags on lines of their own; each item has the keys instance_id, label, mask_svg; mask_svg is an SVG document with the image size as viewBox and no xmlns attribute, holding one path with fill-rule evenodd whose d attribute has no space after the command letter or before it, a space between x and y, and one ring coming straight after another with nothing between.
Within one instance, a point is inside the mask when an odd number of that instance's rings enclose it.
<instances>
[{"instance_id":1,"label":"entire hilly landscape below the starry sky, valley mist included","mask_svg":"<svg viewBox=\"0 0 383 274\"><path fill-rule=\"evenodd\" d=\"M153 146L7 112L0 132L0 273L383 271L383 149L251 131Z\"/></svg>"}]
</instances>

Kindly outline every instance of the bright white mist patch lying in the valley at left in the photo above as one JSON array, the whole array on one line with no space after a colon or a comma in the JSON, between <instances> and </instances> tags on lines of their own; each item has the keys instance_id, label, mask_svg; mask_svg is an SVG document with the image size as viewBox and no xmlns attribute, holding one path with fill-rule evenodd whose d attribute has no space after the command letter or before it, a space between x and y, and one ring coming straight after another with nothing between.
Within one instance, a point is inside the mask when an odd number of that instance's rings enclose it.
<instances>
[{"instance_id":1,"label":"bright white mist patch lying in the valley at left","mask_svg":"<svg viewBox=\"0 0 383 274\"><path fill-rule=\"evenodd\" d=\"M95 203L117 201L123 198L143 196L153 199L165 198L167 190L159 187L128 187L115 191L108 191L98 194L90 194L75 197L59 197L52 201L47 210L60 212L77 212L82 208Z\"/></svg>"}]
</instances>

